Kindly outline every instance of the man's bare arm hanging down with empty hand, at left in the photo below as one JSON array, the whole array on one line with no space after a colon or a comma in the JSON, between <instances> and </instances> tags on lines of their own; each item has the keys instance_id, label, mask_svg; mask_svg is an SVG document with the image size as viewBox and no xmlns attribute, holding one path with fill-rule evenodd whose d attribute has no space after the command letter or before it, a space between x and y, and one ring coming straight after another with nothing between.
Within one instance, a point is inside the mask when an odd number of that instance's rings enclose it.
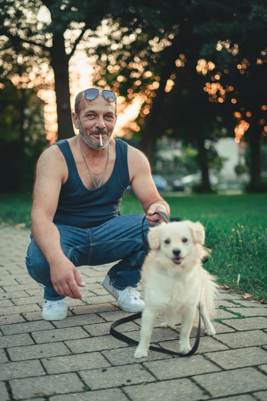
<instances>
[{"instance_id":1,"label":"man's bare arm hanging down with empty hand, at left","mask_svg":"<svg viewBox=\"0 0 267 401\"><path fill-rule=\"evenodd\" d=\"M32 234L50 265L51 280L56 292L81 299L77 284L85 284L76 267L65 257L60 246L59 231L53 223L64 176L64 163L57 146L43 152L38 160L31 214Z\"/></svg>"}]
</instances>

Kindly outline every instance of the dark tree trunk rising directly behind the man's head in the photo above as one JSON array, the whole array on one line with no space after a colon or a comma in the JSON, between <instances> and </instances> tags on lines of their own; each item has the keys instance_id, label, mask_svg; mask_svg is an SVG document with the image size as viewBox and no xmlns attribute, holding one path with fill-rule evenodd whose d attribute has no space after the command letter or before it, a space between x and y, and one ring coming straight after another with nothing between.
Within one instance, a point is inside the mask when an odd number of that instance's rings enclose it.
<instances>
[{"instance_id":1,"label":"dark tree trunk rising directly behind the man's head","mask_svg":"<svg viewBox=\"0 0 267 401\"><path fill-rule=\"evenodd\" d=\"M51 48L51 66L55 75L55 93L57 105L58 140L74 136L71 117L69 56L65 52L65 41L62 32L53 34Z\"/></svg>"}]
</instances>

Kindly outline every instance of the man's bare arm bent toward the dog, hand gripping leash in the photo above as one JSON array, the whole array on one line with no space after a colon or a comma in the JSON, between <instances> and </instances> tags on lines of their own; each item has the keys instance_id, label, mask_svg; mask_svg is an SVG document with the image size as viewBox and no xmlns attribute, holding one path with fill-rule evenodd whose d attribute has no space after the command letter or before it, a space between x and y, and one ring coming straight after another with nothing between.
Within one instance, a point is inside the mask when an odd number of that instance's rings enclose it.
<instances>
[{"instance_id":1,"label":"man's bare arm bent toward the dog, hand gripping leash","mask_svg":"<svg viewBox=\"0 0 267 401\"><path fill-rule=\"evenodd\" d=\"M144 212L149 215L147 217L149 223L153 225L153 221L163 220L160 215L153 216L154 212L164 212L169 216L170 207L160 196L155 186L146 156L139 150L129 146L128 166L132 191L139 199Z\"/></svg>"}]
</instances>

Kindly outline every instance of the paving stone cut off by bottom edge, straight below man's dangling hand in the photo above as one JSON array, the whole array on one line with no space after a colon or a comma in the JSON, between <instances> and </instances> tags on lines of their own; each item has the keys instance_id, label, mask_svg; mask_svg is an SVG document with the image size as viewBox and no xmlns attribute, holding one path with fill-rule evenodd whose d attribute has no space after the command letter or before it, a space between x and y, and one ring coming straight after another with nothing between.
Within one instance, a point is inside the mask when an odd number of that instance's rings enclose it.
<instances>
[{"instance_id":1,"label":"paving stone cut off by bottom edge, straight below man's dangling hand","mask_svg":"<svg viewBox=\"0 0 267 401\"><path fill-rule=\"evenodd\" d=\"M87 391L65 395L54 395L50 401L128 401L128 397L120 389ZM39 401L39 398L38 398ZM139 400L141 401L141 400Z\"/></svg>"}]
</instances>

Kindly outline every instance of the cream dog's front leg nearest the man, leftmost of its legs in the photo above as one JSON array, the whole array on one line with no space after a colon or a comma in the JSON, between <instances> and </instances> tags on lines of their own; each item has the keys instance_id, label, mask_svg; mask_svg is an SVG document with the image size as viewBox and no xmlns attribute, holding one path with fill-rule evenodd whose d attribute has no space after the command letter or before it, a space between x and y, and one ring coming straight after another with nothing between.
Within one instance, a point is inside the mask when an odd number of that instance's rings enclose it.
<instances>
[{"instance_id":1,"label":"cream dog's front leg nearest the man, leftmost of its legs","mask_svg":"<svg viewBox=\"0 0 267 401\"><path fill-rule=\"evenodd\" d=\"M135 352L135 358L145 358L148 354L149 343L155 319L158 312L154 308L145 307L141 321L141 340Z\"/></svg>"}]
</instances>

